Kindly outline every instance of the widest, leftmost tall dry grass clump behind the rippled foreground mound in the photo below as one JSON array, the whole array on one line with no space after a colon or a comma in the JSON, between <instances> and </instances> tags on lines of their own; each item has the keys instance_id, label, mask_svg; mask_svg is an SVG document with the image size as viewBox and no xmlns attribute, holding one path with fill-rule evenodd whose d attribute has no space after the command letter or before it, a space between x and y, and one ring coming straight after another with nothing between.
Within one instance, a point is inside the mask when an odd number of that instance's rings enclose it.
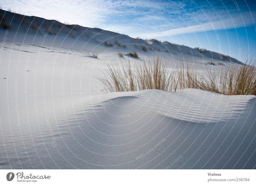
<instances>
[{"instance_id":1,"label":"widest, leftmost tall dry grass clump behind the rippled foreground mound","mask_svg":"<svg viewBox=\"0 0 256 185\"><path fill-rule=\"evenodd\" d=\"M107 64L102 78L98 78L107 92L139 91L144 89L170 90L171 76L159 58L156 60L131 63L124 60L121 65L116 61Z\"/></svg>"}]
</instances>

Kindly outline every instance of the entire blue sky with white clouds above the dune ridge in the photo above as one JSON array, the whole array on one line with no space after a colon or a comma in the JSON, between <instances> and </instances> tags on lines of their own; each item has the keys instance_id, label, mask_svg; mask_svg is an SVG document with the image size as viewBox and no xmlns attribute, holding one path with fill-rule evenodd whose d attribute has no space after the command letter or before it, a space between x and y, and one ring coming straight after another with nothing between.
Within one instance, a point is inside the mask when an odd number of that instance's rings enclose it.
<instances>
[{"instance_id":1,"label":"entire blue sky with white clouds above the dune ridge","mask_svg":"<svg viewBox=\"0 0 256 185\"><path fill-rule=\"evenodd\" d=\"M256 53L255 0L0 0L0 5L25 15L206 48L241 61Z\"/></svg>"}]
</instances>

